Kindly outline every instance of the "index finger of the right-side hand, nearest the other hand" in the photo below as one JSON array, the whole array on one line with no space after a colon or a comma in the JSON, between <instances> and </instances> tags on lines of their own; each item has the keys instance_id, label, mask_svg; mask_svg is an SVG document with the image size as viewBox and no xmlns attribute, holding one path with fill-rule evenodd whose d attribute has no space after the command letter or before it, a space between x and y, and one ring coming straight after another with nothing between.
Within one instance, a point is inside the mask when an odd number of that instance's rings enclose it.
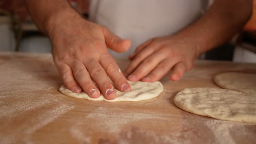
<instances>
[{"instance_id":1,"label":"index finger of the right-side hand, nearest the other hand","mask_svg":"<svg viewBox=\"0 0 256 144\"><path fill-rule=\"evenodd\" d=\"M151 55L155 51L155 45L149 45L142 51L140 51L135 58L131 61L129 66L126 68L124 75L128 76L134 71L138 65L144 61L145 58L147 58L149 55Z\"/></svg>"}]
</instances>

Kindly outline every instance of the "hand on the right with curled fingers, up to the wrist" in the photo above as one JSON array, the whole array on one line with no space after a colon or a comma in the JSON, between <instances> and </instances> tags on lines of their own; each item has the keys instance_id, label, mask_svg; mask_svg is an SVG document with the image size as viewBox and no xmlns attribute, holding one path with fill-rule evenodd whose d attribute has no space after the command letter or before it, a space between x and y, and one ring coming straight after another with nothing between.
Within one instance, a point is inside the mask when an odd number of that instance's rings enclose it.
<instances>
[{"instance_id":1,"label":"hand on the right with curled fingers, up to the wrist","mask_svg":"<svg viewBox=\"0 0 256 144\"><path fill-rule=\"evenodd\" d=\"M195 46L177 36L149 39L129 57L132 61L125 71L131 81L153 82L172 70L170 79L179 80L193 67L199 56Z\"/></svg>"}]
</instances>

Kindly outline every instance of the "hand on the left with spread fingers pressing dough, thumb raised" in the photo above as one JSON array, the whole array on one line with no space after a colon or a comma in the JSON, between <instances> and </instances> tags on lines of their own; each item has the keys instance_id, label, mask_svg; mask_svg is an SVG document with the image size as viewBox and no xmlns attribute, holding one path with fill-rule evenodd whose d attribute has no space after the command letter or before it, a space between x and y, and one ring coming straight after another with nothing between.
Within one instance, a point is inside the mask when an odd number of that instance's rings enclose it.
<instances>
[{"instance_id":1,"label":"hand on the left with spread fingers pressing dough, thumb raised","mask_svg":"<svg viewBox=\"0 0 256 144\"><path fill-rule=\"evenodd\" d=\"M123 92L131 91L129 83L107 51L109 47L124 52L131 45L130 40L122 40L106 27L80 16L65 20L48 34L53 45L55 65L69 90L74 93L84 90L91 98L99 97L101 92L109 100L117 96L115 88Z\"/></svg>"}]
</instances>

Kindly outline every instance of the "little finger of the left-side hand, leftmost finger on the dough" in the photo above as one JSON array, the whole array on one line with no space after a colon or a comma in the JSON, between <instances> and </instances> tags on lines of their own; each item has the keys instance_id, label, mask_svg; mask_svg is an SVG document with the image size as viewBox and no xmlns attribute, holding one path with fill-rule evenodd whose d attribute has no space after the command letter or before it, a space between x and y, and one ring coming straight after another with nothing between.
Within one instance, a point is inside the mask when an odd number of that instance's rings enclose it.
<instances>
[{"instance_id":1,"label":"little finger of the left-side hand, leftmost finger on the dough","mask_svg":"<svg viewBox=\"0 0 256 144\"><path fill-rule=\"evenodd\" d=\"M74 93L82 92L82 88L78 85L77 81L75 81L72 70L69 67L69 65L63 62L56 62L55 64L65 86Z\"/></svg>"}]
</instances>

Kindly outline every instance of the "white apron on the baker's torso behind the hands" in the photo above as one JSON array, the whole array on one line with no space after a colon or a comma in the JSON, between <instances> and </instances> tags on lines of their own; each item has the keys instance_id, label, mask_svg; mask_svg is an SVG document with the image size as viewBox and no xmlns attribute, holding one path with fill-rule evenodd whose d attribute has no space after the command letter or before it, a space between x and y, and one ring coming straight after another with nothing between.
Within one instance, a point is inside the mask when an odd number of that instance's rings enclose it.
<instances>
[{"instance_id":1,"label":"white apron on the baker's torso behind the hands","mask_svg":"<svg viewBox=\"0 0 256 144\"><path fill-rule=\"evenodd\" d=\"M127 57L144 41L171 35L199 19L209 0L91 0L89 20L106 26L114 34L131 40Z\"/></svg>"}]
</instances>

